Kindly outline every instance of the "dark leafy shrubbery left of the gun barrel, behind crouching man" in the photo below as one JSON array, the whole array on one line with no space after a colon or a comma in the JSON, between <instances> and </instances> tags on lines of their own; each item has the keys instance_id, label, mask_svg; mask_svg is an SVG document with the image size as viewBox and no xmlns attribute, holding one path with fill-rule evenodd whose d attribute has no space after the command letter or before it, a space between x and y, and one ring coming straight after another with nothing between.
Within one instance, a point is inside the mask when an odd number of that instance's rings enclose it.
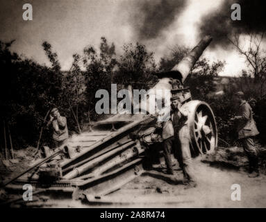
<instances>
[{"instance_id":1,"label":"dark leafy shrubbery left of the gun barrel, behind crouching man","mask_svg":"<svg viewBox=\"0 0 266 222\"><path fill-rule=\"evenodd\" d=\"M125 45L124 53L117 57L115 45L102 37L99 49L87 46L82 55L73 55L69 71L61 70L49 42L42 46L51 67L12 53L12 43L0 42L0 128L2 131L5 126L7 131L9 126L15 148L36 146L46 124L44 117L53 107L67 117L70 133L80 133L85 123L99 118L94 110L98 89L110 92L111 83L127 87L132 82L136 88L147 88L147 83L157 79L151 75L156 70L153 53L138 43ZM51 128L44 128L42 144L49 145L50 139ZM3 134L0 146L5 146Z\"/></svg>"}]
</instances>

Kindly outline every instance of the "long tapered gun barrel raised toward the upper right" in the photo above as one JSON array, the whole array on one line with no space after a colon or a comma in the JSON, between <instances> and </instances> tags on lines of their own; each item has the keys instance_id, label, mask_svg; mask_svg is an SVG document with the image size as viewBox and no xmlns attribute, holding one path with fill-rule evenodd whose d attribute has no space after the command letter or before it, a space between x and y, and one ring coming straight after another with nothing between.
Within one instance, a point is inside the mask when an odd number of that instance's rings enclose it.
<instances>
[{"instance_id":1,"label":"long tapered gun barrel raised toward the upper right","mask_svg":"<svg viewBox=\"0 0 266 222\"><path fill-rule=\"evenodd\" d=\"M194 67L199 57L202 55L203 51L207 48L213 38L210 35L206 35L203 39L197 44L197 46L188 53L188 56L185 56L174 68L172 72L178 72L182 76L182 83L185 82L185 79L190 74L190 70Z\"/></svg>"}]
</instances>

